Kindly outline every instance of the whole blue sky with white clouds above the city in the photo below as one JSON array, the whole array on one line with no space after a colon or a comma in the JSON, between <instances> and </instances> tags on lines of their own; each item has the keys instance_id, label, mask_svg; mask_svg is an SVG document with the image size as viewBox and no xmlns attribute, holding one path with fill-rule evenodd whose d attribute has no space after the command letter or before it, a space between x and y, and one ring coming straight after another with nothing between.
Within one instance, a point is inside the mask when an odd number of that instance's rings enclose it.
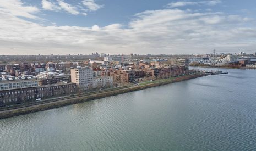
<instances>
[{"instance_id":1,"label":"whole blue sky with white clouds above the city","mask_svg":"<svg viewBox=\"0 0 256 151\"><path fill-rule=\"evenodd\" d=\"M256 1L0 0L2 54L256 52Z\"/></svg>"}]
</instances>

